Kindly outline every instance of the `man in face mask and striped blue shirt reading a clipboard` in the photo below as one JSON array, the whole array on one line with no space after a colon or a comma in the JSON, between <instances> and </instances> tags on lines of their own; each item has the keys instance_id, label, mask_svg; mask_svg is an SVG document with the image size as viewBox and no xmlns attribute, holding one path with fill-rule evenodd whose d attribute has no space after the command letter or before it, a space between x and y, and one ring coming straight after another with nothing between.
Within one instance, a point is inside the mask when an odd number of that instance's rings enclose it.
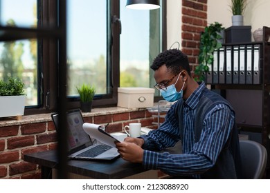
<instances>
[{"instance_id":1,"label":"man in face mask and striped blue shirt reading a clipboard","mask_svg":"<svg viewBox=\"0 0 270 193\"><path fill-rule=\"evenodd\" d=\"M116 143L121 157L174 178L240 178L235 114L228 101L192 79L188 57L180 50L161 52L151 68L155 88L165 100L177 102L158 130ZM180 139L182 154L158 152Z\"/></svg>"}]
</instances>

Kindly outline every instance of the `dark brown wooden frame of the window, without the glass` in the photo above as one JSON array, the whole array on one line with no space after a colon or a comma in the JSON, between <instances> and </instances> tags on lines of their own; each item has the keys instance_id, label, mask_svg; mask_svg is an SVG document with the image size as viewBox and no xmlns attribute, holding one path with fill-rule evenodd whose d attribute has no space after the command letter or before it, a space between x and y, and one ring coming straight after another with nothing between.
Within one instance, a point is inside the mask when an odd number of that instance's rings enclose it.
<instances>
[{"instance_id":1,"label":"dark brown wooden frame of the window, without the glass","mask_svg":"<svg viewBox=\"0 0 270 193\"><path fill-rule=\"evenodd\" d=\"M93 100L93 108L111 107L116 106L118 101L118 87L120 86L120 22L114 22L112 17L116 16L120 18L120 1L119 0L107 0L110 3L111 10L107 10L111 29L110 41L108 45L108 57L109 57L109 73L111 75L111 94L109 96L96 95ZM161 49L166 48L166 2L162 0L162 42ZM58 15L59 1L55 0L37 0L38 11L38 23L37 26L41 28L57 28L59 26ZM112 43L113 41L113 43ZM59 44L57 39L39 39L38 40L38 88L40 91L41 104L35 108L26 107L25 114L39 114L46 112L53 112L57 110L57 97L58 97L58 68L59 56L58 54ZM46 56L46 57L45 57ZM117 77L117 78L116 78ZM154 101L159 101L161 96L155 96ZM76 98L67 97L67 109L79 108L80 101Z\"/></svg>"}]
</instances>

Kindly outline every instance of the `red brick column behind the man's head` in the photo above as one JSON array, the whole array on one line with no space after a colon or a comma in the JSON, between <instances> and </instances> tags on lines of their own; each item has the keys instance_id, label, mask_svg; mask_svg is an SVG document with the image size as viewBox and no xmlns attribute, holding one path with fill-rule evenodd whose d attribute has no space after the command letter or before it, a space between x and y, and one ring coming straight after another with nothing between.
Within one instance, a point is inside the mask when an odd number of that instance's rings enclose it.
<instances>
[{"instance_id":1,"label":"red brick column behind the man's head","mask_svg":"<svg viewBox=\"0 0 270 193\"><path fill-rule=\"evenodd\" d=\"M190 68L198 65L199 38L207 26L207 0L182 1L182 51L188 55Z\"/></svg>"}]
</instances>

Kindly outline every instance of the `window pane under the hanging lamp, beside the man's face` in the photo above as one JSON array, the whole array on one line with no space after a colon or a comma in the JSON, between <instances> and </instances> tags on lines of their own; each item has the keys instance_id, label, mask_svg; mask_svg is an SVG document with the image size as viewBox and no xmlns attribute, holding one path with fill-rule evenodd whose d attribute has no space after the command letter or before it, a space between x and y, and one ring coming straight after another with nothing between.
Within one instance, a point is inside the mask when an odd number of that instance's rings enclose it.
<instances>
[{"instance_id":1,"label":"window pane under the hanging lamp, beside the man's face","mask_svg":"<svg viewBox=\"0 0 270 193\"><path fill-rule=\"evenodd\" d=\"M161 50L161 9L131 10L126 2L120 1L120 87L152 88L150 65Z\"/></svg>"}]
</instances>

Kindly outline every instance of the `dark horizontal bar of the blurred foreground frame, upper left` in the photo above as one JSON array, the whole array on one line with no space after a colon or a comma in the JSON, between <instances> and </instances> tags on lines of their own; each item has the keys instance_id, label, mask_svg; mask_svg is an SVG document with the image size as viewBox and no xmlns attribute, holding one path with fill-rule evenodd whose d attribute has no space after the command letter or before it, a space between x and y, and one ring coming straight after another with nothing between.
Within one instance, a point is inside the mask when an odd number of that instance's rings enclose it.
<instances>
[{"instance_id":1,"label":"dark horizontal bar of the blurred foreground frame, upper left","mask_svg":"<svg viewBox=\"0 0 270 193\"><path fill-rule=\"evenodd\" d=\"M59 38L58 28L15 28L0 26L0 41L16 41L20 39Z\"/></svg>"}]
</instances>

